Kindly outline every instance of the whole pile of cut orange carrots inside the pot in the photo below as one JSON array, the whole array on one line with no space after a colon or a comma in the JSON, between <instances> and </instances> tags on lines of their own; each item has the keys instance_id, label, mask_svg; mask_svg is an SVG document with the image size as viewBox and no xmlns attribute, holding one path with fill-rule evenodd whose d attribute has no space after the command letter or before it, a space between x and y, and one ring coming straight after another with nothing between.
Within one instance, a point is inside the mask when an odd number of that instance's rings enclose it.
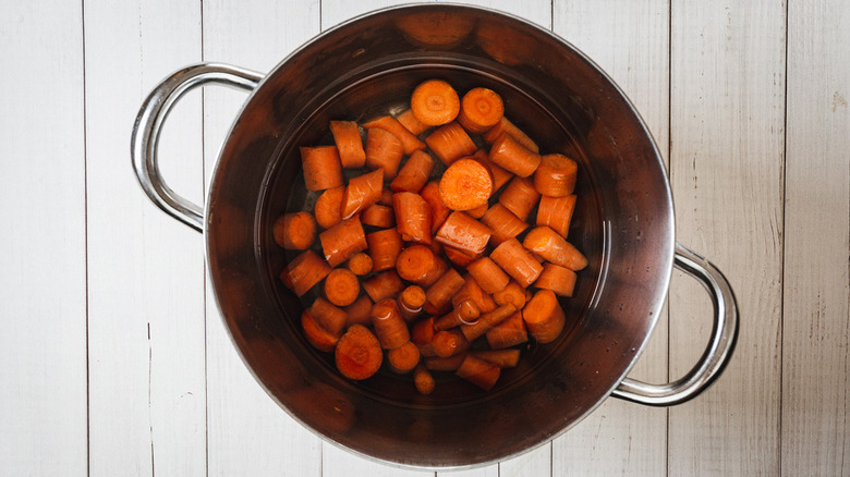
<instances>
[{"instance_id":1,"label":"whole pile of cut orange carrots inside the pot","mask_svg":"<svg viewBox=\"0 0 850 477\"><path fill-rule=\"evenodd\" d=\"M333 145L300 150L314 210L281 216L274 237L298 254L283 284L316 296L306 340L343 376L386 366L429 394L453 371L489 390L530 339L561 334L558 298L587 266L567 242L575 161L541 155L496 91L442 80L399 114L329 127Z\"/></svg>"}]
</instances>

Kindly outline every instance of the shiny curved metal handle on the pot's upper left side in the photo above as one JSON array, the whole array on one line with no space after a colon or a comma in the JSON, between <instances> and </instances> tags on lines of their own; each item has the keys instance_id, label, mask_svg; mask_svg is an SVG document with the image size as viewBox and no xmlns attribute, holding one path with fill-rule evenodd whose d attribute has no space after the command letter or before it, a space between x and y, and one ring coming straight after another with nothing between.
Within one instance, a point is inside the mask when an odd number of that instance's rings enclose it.
<instances>
[{"instance_id":1,"label":"shiny curved metal handle on the pot's upper left side","mask_svg":"<svg viewBox=\"0 0 850 477\"><path fill-rule=\"evenodd\" d=\"M169 216L202 232L204 209L181 197L159 173L159 133L162 124L185 93L206 83L254 90L263 74L221 63L197 63L172 73L150 91L142 103L130 139L133 169L150 200Z\"/></svg>"}]
</instances>

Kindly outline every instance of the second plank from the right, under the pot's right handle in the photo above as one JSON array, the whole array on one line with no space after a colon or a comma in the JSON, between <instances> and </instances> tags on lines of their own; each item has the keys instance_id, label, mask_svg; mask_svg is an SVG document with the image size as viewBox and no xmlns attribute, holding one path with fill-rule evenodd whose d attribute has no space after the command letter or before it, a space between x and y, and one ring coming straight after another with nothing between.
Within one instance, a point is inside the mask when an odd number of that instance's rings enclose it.
<instances>
[{"instance_id":1,"label":"second plank from the right, under the pot's right handle","mask_svg":"<svg viewBox=\"0 0 850 477\"><path fill-rule=\"evenodd\" d=\"M785 5L682 1L671 14L677 238L731 282L740 333L724 376L670 409L669 475L779 475ZM673 283L670 365L705 348L711 313Z\"/></svg>"}]
</instances>

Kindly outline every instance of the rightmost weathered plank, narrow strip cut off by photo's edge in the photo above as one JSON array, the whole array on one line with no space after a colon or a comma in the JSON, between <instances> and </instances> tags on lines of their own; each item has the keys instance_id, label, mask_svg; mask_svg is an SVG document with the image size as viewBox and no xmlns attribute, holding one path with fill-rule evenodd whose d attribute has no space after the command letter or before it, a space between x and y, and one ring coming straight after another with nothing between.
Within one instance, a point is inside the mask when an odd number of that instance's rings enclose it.
<instances>
[{"instance_id":1,"label":"rightmost weathered plank, narrow strip cut off by photo's edge","mask_svg":"<svg viewBox=\"0 0 850 477\"><path fill-rule=\"evenodd\" d=\"M850 475L850 4L790 2L782 473Z\"/></svg>"}]
</instances>

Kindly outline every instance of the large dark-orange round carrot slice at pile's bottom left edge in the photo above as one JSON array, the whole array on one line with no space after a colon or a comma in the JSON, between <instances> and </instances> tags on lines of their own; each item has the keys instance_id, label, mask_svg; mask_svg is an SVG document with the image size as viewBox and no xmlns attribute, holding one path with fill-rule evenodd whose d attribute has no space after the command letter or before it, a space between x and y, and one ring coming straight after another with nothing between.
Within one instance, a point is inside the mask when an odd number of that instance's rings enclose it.
<instances>
[{"instance_id":1,"label":"large dark-orange round carrot slice at pile's bottom left edge","mask_svg":"<svg viewBox=\"0 0 850 477\"><path fill-rule=\"evenodd\" d=\"M342 376L363 380L378 372L384 362L384 352L368 328L354 325L337 342L333 357Z\"/></svg>"}]
</instances>

